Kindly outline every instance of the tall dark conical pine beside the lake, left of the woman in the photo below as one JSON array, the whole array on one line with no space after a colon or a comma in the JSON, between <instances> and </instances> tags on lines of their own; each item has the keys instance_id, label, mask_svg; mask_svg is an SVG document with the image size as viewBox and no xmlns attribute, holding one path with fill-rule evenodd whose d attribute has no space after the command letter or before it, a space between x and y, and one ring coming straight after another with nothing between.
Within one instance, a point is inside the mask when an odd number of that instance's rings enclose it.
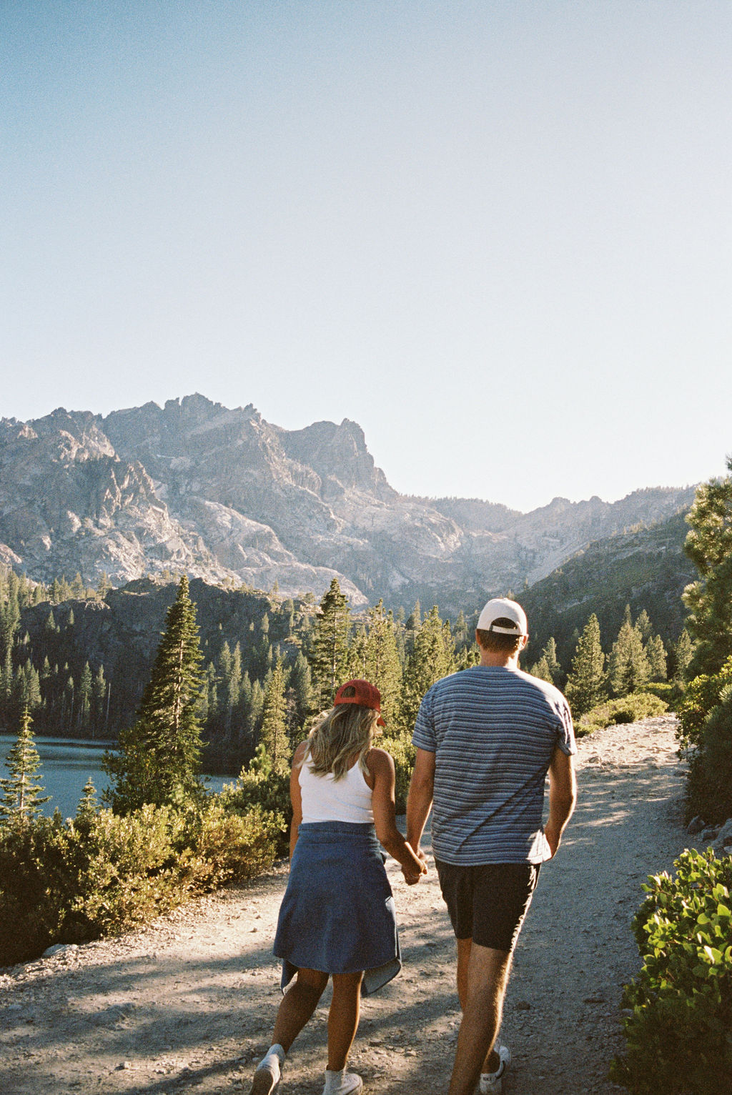
<instances>
[{"instance_id":1,"label":"tall dark conical pine beside the lake, left of the woman","mask_svg":"<svg viewBox=\"0 0 732 1095\"><path fill-rule=\"evenodd\" d=\"M115 812L128 814L145 803L165 805L203 794L198 777L201 662L195 606L183 575L168 610L137 721L119 735L118 752L104 757L104 770L113 781L104 798Z\"/></svg>"}]
</instances>

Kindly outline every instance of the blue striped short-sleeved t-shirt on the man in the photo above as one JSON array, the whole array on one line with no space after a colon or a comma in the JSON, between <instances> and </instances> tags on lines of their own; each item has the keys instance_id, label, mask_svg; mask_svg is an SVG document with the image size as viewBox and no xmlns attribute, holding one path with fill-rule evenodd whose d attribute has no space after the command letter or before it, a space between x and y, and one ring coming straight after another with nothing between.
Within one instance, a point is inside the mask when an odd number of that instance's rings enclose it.
<instances>
[{"instance_id":1,"label":"blue striped short-sleeved t-shirt on the man","mask_svg":"<svg viewBox=\"0 0 732 1095\"><path fill-rule=\"evenodd\" d=\"M412 742L435 753L432 848L445 863L542 863L544 786L559 746L576 752L553 684L521 669L473 666L432 685Z\"/></svg>"}]
</instances>

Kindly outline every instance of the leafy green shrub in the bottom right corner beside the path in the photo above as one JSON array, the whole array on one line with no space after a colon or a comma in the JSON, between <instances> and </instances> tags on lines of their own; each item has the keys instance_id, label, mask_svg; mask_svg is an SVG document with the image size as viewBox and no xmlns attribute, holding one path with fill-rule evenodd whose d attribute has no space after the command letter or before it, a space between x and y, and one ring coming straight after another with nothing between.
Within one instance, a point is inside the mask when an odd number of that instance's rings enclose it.
<instances>
[{"instance_id":1,"label":"leafy green shrub in the bottom right corner beside the path","mask_svg":"<svg viewBox=\"0 0 732 1095\"><path fill-rule=\"evenodd\" d=\"M610 1077L632 1095L732 1091L732 860L683 852L633 920L643 967L626 987L626 1053Z\"/></svg>"}]
</instances>

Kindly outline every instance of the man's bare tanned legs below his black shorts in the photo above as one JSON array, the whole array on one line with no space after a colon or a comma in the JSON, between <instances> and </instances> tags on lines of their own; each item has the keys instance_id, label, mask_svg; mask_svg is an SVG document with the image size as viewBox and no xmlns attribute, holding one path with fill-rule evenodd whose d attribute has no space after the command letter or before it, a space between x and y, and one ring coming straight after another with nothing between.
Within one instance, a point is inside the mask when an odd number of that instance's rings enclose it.
<instances>
[{"instance_id":1,"label":"man's bare tanned legs below his black shorts","mask_svg":"<svg viewBox=\"0 0 732 1095\"><path fill-rule=\"evenodd\" d=\"M457 943L462 1022L449 1095L472 1095L481 1070L493 1072L500 1065L492 1050L501 1026L511 952L482 947L471 940L458 940Z\"/></svg>"}]
</instances>

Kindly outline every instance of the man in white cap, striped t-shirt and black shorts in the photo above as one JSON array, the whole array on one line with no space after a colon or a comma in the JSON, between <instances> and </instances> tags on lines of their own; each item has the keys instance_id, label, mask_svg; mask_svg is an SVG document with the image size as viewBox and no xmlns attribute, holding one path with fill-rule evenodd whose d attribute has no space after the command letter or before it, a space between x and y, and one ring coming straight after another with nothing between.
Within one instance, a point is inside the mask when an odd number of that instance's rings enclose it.
<instances>
[{"instance_id":1,"label":"man in white cap, striped t-shirt and black shorts","mask_svg":"<svg viewBox=\"0 0 732 1095\"><path fill-rule=\"evenodd\" d=\"M539 866L556 854L576 798L567 700L518 668L526 613L490 600L476 639L480 664L438 680L422 701L407 804L415 851L433 808L432 848L457 938L462 1022L449 1095L472 1095L479 1076L483 1095L503 1090L511 1053L493 1046L513 950Z\"/></svg>"}]
</instances>

